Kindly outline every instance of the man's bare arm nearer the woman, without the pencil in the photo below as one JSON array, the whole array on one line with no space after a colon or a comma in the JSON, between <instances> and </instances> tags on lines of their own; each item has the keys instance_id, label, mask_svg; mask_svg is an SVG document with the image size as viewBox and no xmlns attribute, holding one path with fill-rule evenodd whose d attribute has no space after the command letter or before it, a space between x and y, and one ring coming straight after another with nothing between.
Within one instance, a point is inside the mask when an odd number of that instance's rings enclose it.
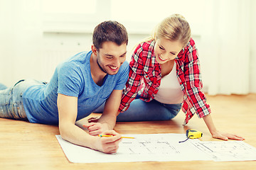
<instances>
[{"instance_id":1,"label":"man's bare arm nearer the woman, without the pencil","mask_svg":"<svg viewBox=\"0 0 256 170\"><path fill-rule=\"evenodd\" d=\"M117 120L117 111L121 102L122 90L113 90L107 98L102 116L97 123L87 123L84 125L89 130L90 135L99 135L105 130L112 130Z\"/></svg>"}]
</instances>

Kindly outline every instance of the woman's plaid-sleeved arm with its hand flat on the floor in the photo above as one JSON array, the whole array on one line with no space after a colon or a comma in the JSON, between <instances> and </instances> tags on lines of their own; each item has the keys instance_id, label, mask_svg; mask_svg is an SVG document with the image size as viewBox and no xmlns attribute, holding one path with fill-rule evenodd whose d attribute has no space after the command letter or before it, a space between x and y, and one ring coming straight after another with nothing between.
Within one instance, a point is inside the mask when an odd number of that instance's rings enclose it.
<instances>
[{"instance_id":1,"label":"woman's plaid-sleeved arm with its hand flat on the floor","mask_svg":"<svg viewBox=\"0 0 256 170\"><path fill-rule=\"evenodd\" d=\"M203 118L213 138L218 138L220 140L244 140L243 137L227 132L220 132L215 128L213 119L210 116L210 106L206 103L206 96L203 94L203 91L201 91L203 84L201 81L198 52L195 42L192 39L189 43L188 49L191 50L187 50L186 52L186 64L184 64L184 72L186 88L188 90L188 98L190 98L189 101L191 103L190 107L195 108L199 118Z\"/></svg>"}]
</instances>

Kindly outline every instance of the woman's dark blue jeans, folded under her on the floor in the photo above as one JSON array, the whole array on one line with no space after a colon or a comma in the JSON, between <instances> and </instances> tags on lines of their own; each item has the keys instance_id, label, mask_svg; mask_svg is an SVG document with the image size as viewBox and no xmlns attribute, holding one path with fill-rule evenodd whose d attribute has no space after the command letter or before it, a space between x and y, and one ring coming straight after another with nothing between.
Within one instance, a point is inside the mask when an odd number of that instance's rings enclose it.
<instances>
[{"instance_id":1,"label":"woman's dark blue jeans, folded under her on the floor","mask_svg":"<svg viewBox=\"0 0 256 170\"><path fill-rule=\"evenodd\" d=\"M102 113L105 103L97 108L93 113ZM171 120L181 110L181 103L165 104L152 100L142 101L139 98L134 99L127 111L117 116L117 122L137 122L151 120Z\"/></svg>"}]
</instances>

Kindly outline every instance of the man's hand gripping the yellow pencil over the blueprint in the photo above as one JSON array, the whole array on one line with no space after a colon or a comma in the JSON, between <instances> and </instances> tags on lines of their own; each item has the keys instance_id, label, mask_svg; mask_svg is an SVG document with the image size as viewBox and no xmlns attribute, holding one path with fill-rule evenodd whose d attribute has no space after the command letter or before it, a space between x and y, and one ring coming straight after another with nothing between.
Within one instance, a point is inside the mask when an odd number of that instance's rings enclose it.
<instances>
[{"instance_id":1,"label":"man's hand gripping the yellow pencil over the blueprint","mask_svg":"<svg viewBox=\"0 0 256 170\"><path fill-rule=\"evenodd\" d=\"M107 130L102 135L112 135L112 137L97 137L95 149L106 154L116 153L119 148L119 142L122 140L121 135L114 130Z\"/></svg>"}]
</instances>

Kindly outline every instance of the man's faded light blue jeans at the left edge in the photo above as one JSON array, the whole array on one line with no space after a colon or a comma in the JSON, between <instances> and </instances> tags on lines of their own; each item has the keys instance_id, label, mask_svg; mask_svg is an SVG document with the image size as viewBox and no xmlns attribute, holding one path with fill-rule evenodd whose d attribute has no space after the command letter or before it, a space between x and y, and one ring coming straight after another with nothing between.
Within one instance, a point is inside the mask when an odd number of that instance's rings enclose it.
<instances>
[{"instance_id":1,"label":"man's faded light blue jeans at the left edge","mask_svg":"<svg viewBox=\"0 0 256 170\"><path fill-rule=\"evenodd\" d=\"M41 81L21 80L11 88L0 84L0 118L28 120L23 107L23 93L29 86L43 84Z\"/></svg>"}]
</instances>

